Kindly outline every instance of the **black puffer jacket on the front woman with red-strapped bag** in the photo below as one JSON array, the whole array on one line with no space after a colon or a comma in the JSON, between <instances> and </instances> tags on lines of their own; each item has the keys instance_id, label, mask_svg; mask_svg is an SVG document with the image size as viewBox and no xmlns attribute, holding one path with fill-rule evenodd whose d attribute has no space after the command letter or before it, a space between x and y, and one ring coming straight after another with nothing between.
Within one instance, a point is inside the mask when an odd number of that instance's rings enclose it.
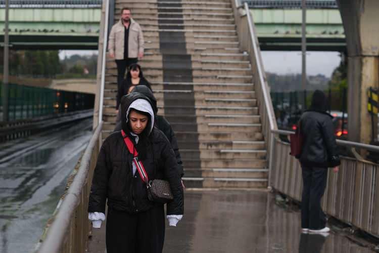
<instances>
[{"instance_id":1,"label":"black puffer jacket on the front woman with red-strapped bag","mask_svg":"<svg viewBox=\"0 0 379 253\"><path fill-rule=\"evenodd\" d=\"M126 112L130 104L137 99L149 101L142 94L130 94L122 98L121 110ZM122 113L122 122L122 129L130 135L126 113ZM147 128L149 127L148 125ZM134 138L130 139L134 141ZM183 189L170 143L161 131L153 128L147 145L146 157L142 162L149 179L165 179L170 183L174 200L167 206L167 215L182 215ZM129 153L121 132L111 134L104 141L93 174L88 212L105 213L107 199L111 208L128 213L143 212L159 205L148 200L146 184L138 172L132 175L132 159L133 156Z\"/></svg>"}]
</instances>

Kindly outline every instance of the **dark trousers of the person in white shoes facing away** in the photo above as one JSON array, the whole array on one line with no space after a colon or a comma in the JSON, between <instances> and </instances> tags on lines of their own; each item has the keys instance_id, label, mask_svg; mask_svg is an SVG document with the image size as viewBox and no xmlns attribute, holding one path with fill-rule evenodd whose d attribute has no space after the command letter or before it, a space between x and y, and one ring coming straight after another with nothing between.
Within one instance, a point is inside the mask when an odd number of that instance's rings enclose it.
<instances>
[{"instance_id":1,"label":"dark trousers of the person in white shoes facing away","mask_svg":"<svg viewBox=\"0 0 379 253\"><path fill-rule=\"evenodd\" d=\"M327 168L302 167L303 194L301 197L301 227L322 229L325 227L325 214L321 209L327 179Z\"/></svg>"}]
</instances>

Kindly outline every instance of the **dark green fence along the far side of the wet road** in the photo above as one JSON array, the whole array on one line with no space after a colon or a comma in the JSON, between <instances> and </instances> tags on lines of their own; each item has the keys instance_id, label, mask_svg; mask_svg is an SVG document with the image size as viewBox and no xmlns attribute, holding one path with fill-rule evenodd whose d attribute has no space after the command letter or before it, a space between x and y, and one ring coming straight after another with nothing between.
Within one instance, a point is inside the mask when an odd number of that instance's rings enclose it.
<instances>
[{"instance_id":1,"label":"dark green fence along the far side of the wet road","mask_svg":"<svg viewBox=\"0 0 379 253\"><path fill-rule=\"evenodd\" d=\"M0 85L0 121L3 121ZM94 95L9 84L9 121L93 108Z\"/></svg>"}]
</instances>

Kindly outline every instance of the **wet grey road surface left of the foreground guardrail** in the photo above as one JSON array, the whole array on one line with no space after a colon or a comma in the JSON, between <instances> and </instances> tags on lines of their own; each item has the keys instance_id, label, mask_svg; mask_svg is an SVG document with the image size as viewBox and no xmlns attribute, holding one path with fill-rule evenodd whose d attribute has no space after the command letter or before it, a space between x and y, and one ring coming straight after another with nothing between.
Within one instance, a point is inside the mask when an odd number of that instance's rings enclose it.
<instances>
[{"instance_id":1,"label":"wet grey road surface left of the foreground guardrail","mask_svg":"<svg viewBox=\"0 0 379 253\"><path fill-rule=\"evenodd\" d=\"M0 252L33 252L89 142L92 119L0 145Z\"/></svg>"}]
</instances>

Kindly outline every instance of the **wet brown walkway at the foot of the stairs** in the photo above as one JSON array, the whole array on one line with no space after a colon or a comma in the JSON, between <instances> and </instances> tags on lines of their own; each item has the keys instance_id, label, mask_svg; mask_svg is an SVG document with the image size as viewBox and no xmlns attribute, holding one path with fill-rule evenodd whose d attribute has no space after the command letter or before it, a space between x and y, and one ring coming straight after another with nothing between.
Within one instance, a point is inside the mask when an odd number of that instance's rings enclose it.
<instances>
[{"instance_id":1,"label":"wet brown walkway at the foot of the stairs","mask_svg":"<svg viewBox=\"0 0 379 253\"><path fill-rule=\"evenodd\" d=\"M105 224L101 230L93 230L89 243L90 253L104 253L104 251ZM300 212L275 204L275 196L264 190L187 190L184 218L177 227L166 227L163 252L369 253L374 251L356 244L338 232L331 232L329 235L302 234Z\"/></svg>"}]
</instances>

